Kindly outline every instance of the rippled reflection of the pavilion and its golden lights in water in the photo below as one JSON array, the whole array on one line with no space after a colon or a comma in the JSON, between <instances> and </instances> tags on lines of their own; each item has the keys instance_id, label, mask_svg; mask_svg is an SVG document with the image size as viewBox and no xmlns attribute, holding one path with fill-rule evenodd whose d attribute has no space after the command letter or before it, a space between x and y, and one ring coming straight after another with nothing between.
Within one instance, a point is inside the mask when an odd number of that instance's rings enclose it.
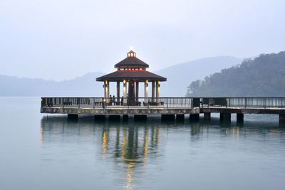
<instances>
[{"instance_id":1,"label":"rippled reflection of the pavilion and its golden lights in water","mask_svg":"<svg viewBox=\"0 0 285 190\"><path fill-rule=\"evenodd\" d=\"M143 130L143 132L142 132ZM115 137L115 158L120 158L125 164L125 189L132 189L133 170L136 165L146 166L149 147L157 152L159 144L160 127L117 127L113 132ZM109 127L103 127L102 158L106 158L108 148L112 144ZM140 139L142 139L140 141ZM113 149L113 147L110 147ZM153 153L153 152L152 152Z\"/></svg>"}]
</instances>

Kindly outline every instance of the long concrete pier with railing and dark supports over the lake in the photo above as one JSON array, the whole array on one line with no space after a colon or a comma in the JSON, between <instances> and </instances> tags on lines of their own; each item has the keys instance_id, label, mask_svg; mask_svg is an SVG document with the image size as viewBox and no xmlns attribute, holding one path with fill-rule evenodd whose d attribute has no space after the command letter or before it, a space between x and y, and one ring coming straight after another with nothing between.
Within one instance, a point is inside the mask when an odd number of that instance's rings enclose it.
<instances>
[{"instance_id":1,"label":"long concrete pier with railing and dark supports over the lake","mask_svg":"<svg viewBox=\"0 0 285 190\"><path fill-rule=\"evenodd\" d=\"M41 113L66 114L70 118L94 115L97 120L106 116L110 120L127 120L130 115L135 120L147 120L147 115L160 115L162 120L181 120L190 115L190 120L199 120L200 114L210 120L211 113L219 113L220 120L230 121L235 115L237 122L244 120L244 114L276 114L279 122L285 122L285 97L159 97L158 102L148 99L145 105L145 97L114 102L105 97L41 97Z\"/></svg>"}]
</instances>

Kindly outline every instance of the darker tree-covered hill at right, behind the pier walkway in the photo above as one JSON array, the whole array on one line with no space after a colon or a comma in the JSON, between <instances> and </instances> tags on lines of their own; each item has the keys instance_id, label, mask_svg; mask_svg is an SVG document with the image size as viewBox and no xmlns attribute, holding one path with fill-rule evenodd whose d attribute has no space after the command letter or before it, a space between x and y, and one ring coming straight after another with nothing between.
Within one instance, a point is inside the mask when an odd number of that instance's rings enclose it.
<instances>
[{"instance_id":1,"label":"darker tree-covered hill at right, behind the pier walkway","mask_svg":"<svg viewBox=\"0 0 285 190\"><path fill-rule=\"evenodd\" d=\"M187 96L285 96L285 51L261 54L196 80Z\"/></svg>"}]
</instances>

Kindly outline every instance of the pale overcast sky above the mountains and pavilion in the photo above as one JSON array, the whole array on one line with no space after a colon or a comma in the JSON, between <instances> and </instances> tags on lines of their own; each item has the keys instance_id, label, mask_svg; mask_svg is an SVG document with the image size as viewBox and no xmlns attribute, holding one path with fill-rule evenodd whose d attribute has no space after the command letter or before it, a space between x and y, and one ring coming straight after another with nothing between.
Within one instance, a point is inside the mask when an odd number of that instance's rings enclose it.
<instances>
[{"instance_id":1,"label":"pale overcast sky above the mountains and pavilion","mask_svg":"<svg viewBox=\"0 0 285 190\"><path fill-rule=\"evenodd\" d=\"M150 70L285 50L284 0L0 0L0 74L112 72L130 46Z\"/></svg>"}]
</instances>

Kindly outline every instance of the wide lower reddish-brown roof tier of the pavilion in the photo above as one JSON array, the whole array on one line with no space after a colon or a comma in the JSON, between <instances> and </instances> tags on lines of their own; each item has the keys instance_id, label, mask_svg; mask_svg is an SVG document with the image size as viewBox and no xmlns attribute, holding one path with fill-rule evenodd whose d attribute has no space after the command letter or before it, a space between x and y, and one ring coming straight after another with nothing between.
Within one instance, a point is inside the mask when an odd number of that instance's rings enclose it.
<instances>
[{"instance_id":1,"label":"wide lower reddish-brown roof tier of the pavilion","mask_svg":"<svg viewBox=\"0 0 285 190\"><path fill-rule=\"evenodd\" d=\"M166 78L156 75L154 73L150 73L147 70L117 70L108 75L103 75L99 78L96 78L96 81L123 81L123 80L138 80L138 81L166 81Z\"/></svg>"}]
</instances>

